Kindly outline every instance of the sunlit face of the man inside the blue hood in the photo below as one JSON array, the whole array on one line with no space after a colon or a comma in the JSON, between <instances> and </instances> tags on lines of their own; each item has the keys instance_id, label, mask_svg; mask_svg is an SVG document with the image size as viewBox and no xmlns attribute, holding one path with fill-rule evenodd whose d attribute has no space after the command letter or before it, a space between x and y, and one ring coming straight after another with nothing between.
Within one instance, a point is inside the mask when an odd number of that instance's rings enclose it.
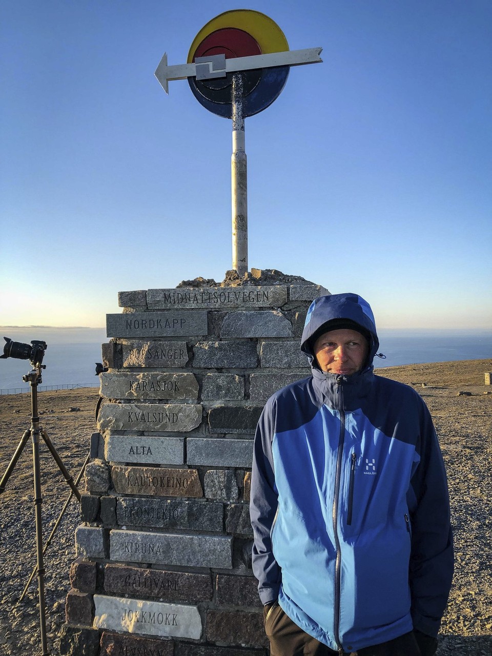
<instances>
[{"instance_id":1,"label":"sunlit face of the man inside the blue hood","mask_svg":"<svg viewBox=\"0 0 492 656\"><path fill-rule=\"evenodd\" d=\"M361 370L369 346L361 333L340 328L318 337L313 350L321 371L350 376Z\"/></svg>"}]
</instances>

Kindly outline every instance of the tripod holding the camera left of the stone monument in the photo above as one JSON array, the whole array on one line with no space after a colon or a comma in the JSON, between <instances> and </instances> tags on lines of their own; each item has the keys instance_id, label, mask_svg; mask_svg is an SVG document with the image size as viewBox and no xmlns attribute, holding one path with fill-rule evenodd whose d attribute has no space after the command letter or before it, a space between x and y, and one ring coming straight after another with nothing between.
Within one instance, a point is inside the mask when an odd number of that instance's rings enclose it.
<instances>
[{"instance_id":1,"label":"tripod holding the camera left of the stone monument","mask_svg":"<svg viewBox=\"0 0 492 656\"><path fill-rule=\"evenodd\" d=\"M43 564L43 554L45 554L45 551L49 546L51 538L54 535L54 531L56 530L56 527L58 527L58 524L60 523L62 515L65 512L65 509L68 506L68 502L72 498L72 495L75 495L78 501L80 501L81 499L80 493L77 490L77 484L82 478L83 470L85 468L85 464L87 464L87 461L89 460L89 456L87 457L86 461L83 464L82 470L79 476L77 477L77 482L73 483L72 477L66 470L66 467L62 462L62 459L60 458L58 453L56 453L56 449L52 445L51 440L49 439L47 433L45 432L45 430L43 430L42 426L39 426L39 417L37 416L37 386L41 382L41 368L44 367L43 365L41 365L41 362L31 361L31 365L34 367L34 369L22 377L22 380L24 380L24 382L29 382L31 386L31 426L30 428L28 428L28 430L24 432L24 435L22 436L15 453L9 462L9 466L7 466L7 469L5 470L5 474L3 474L3 477L0 481L0 494L5 490L5 485L7 485L7 482L9 481L10 474L12 474L12 471L16 466L16 462L18 461L22 451L24 450L24 447L26 446L29 437L31 436L32 454L33 454L33 485L34 485L34 511L35 511L35 525L36 525L37 565L33 569L31 578L28 581L26 588L24 588L24 592L22 593L20 600L24 598L24 594L26 593L28 585L32 580L34 574L37 572L37 588L39 592L39 625L41 629L41 649L42 649L43 656L49 656L50 652L48 651L48 647L47 647L47 632L46 632L46 605L45 605L45 580L44 580L45 568ZM54 526L54 529L49 537L49 540L47 541L44 550L43 550L43 522L41 516L41 504L43 503L43 497L41 496L41 465L39 461L39 436L43 438L43 441L47 445L52 457L54 458L54 461L60 468L60 471L62 472L66 482L68 483L68 485L70 485L70 488L72 489L72 492L70 493L70 497L66 501L62 513L60 514L60 517L58 518Z\"/></svg>"}]
</instances>

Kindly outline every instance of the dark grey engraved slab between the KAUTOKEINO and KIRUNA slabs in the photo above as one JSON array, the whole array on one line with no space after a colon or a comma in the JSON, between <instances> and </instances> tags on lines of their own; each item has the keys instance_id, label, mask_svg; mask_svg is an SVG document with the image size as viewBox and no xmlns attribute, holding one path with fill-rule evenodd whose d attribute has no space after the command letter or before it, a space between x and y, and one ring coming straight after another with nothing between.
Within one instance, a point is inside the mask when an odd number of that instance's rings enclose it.
<instances>
[{"instance_id":1,"label":"dark grey engraved slab between the KAUTOKEINO and KIRUNA slabs","mask_svg":"<svg viewBox=\"0 0 492 656\"><path fill-rule=\"evenodd\" d=\"M116 503L117 522L123 526L222 531L223 517L221 503L132 497L117 497Z\"/></svg>"}]
</instances>

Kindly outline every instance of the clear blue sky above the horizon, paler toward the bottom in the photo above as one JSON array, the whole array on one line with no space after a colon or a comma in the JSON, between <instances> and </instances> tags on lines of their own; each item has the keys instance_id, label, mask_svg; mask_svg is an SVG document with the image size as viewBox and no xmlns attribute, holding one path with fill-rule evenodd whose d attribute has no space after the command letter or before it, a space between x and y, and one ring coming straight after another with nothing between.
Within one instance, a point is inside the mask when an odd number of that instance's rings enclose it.
<instances>
[{"instance_id":1,"label":"clear blue sky above the horizon, paler toward the bottom","mask_svg":"<svg viewBox=\"0 0 492 656\"><path fill-rule=\"evenodd\" d=\"M380 327L489 327L489 0L3 0L0 323L98 327L118 291L223 279L231 122L154 70L242 8L323 47L246 120L250 268Z\"/></svg>"}]
</instances>

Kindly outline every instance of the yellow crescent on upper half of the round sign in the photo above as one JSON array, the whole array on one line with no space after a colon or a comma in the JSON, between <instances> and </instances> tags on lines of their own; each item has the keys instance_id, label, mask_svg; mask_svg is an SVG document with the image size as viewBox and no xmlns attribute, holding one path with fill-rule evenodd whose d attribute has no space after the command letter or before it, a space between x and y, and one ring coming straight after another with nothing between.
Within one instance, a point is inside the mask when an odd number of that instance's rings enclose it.
<instances>
[{"instance_id":1,"label":"yellow crescent on upper half of the round sign","mask_svg":"<svg viewBox=\"0 0 492 656\"><path fill-rule=\"evenodd\" d=\"M285 34L272 18L253 9L232 9L218 14L201 28L193 39L186 62L188 64L193 62L195 51L205 37L222 28L237 28L251 34L260 46L262 54L289 50Z\"/></svg>"}]
</instances>

